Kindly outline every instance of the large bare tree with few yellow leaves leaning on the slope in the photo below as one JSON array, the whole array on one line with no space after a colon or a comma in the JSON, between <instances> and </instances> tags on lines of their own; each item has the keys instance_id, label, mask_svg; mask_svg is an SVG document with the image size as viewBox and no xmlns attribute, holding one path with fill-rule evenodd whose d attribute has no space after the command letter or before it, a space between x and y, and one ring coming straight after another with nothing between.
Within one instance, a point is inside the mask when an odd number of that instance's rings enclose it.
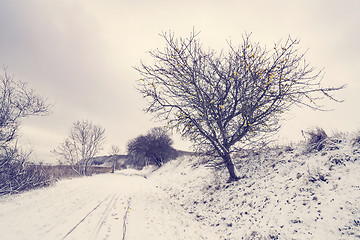
<instances>
[{"instance_id":1,"label":"large bare tree with few yellow leaves leaning on the slope","mask_svg":"<svg viewBox=\"0 0 360 240\"><path fill-rule=\"evenodd\" d=\"M268 50L245 34L238 47L228 42L220 53L204 50L195 32L161 37L166 46L150 51L154 63L135 67L146 111L192 140L195 149L221 159L230 180L238 179L234 151L276 133L291 107L323 110L320 100L337 101L330 94L344 87L323 87L322 71L305 61L299 40L291 37Z\"/></svg>"}]
</instances>

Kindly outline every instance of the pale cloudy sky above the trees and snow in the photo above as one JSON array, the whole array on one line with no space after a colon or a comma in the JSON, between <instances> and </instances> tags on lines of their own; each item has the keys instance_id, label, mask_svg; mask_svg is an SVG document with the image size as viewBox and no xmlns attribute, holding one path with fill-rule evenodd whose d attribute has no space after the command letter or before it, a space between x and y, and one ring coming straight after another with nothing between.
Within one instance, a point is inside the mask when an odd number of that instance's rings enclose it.
<instances>
[{"instance_id":1,"label":"pale cloudy sky above the trees and snow","mask_svg":"<svg viewBox=\"0 0 360 240\"><path fill-rule=\"evenodd\" d=\"M314 126L360 129L359 11L358 0L0 0L0 64L54 103L51 116L26 119L21 129L33 156L49 162L77 120L106 129L103 154L111 145L125 152L128 140L159 125L142 112L133 66L151 63L147 51L164 46L162 31L186 37L194 27L216 50L245 32L267 46L291 35L309 49L307 60L324 68L324 85L347 84L336 94L343 103L325 102L333 111L288 114L279 141L297 141Z\"/></svg>"}]
</instances>

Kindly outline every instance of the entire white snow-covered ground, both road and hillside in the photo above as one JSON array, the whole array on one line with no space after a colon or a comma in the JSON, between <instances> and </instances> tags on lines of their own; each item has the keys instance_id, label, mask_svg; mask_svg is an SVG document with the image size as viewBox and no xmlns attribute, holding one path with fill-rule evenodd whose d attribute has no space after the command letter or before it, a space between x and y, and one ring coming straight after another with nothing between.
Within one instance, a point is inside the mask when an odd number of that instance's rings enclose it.
<instances>
[{"instance_id":1,"label":"entire white snow-covered ground, both road and hillside","mask_svg":"<svg viewBox=\"0 0 360 240\"><path fill-rule=\"evenodd\" d=\"M232 183L189 156L62 180L1 197L0 239L360 239L359 149L239 156Z\"/></svg>"}]
</instances>

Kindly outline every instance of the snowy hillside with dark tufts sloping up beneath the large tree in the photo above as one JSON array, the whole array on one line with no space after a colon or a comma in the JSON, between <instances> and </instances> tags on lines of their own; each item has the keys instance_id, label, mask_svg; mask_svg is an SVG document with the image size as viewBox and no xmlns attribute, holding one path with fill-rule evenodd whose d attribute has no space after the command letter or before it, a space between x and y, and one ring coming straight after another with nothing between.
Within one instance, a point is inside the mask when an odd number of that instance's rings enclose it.
<instances>
[{"instance_id":1,"label":"snowy hillside with dark tufts sloping up beneath the large tree","mask_svg":"<svg viewBox=\"0 0 360 240\"><path fill-rule=\"evenodd\" d=\"M201 158L170 162L151 178L219 239L360 239L360 149L352 139L243 156L244 178L230 184Z\"/></svg>"}]
</instances>

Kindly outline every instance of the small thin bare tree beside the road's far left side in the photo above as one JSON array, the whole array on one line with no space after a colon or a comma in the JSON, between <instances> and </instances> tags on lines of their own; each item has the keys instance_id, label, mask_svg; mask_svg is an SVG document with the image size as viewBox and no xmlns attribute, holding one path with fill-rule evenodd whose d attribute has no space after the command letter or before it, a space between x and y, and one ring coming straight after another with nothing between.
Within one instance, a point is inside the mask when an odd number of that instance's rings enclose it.
<instances>
[{"instance_id":1,"label":"small thin bare tree beside the road's far left side","mask_svg":"<svg viewBox=\"0 0 360 240\"><path fill-rule=\"evenodd\" d=\"M87 120L77 121L69 137L53 153L61 156L79 175L88 175L93 158L102 149L104 140L105 129Z\"/></svg>"}]
</instances>

